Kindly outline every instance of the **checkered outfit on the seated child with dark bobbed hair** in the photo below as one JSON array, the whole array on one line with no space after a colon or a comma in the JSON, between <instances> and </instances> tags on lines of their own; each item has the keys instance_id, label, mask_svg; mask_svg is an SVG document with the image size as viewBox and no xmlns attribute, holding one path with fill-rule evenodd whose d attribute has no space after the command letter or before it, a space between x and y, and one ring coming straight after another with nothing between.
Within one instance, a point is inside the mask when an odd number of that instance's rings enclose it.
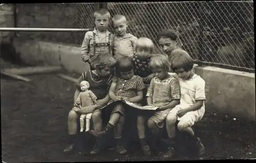
<instances>
[{"instance_id":1,"label":"checkered outfit on the seated child with dark bobbed hair","mask_svg":"<svg viewBox=\"0 0 256 163\"><path fill-rule=\"evenodd\" d=\"M116 89L114 94L116 96L133 98L137 96L137 91L143 90L145 88L145 84L143 80L139 76L134 76L130 80L123 80L117 76L113 77L112 82L116 83ZM110 100L110 103L113 103L113 100ZM139 103L134 103L135 105L141 106ZM124 106L123 104L116 104L111 113L120 112L124 117Z\"/></svg>"}]
</instances>

